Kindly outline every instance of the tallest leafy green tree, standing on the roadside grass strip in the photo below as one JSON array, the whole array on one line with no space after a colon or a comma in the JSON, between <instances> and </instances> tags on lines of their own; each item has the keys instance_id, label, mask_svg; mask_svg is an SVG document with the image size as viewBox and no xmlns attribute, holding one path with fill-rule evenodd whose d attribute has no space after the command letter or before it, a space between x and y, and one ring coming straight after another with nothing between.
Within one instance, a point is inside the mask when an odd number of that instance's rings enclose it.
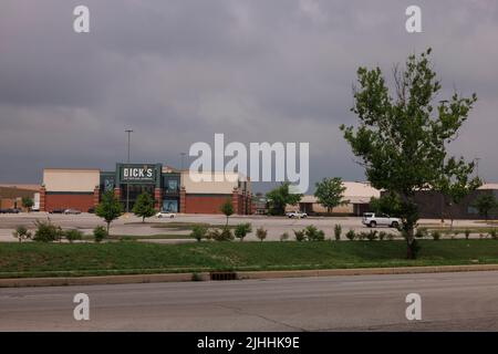
<instances>
[{"instance_id":1,"label":"tallest leafy green tree, standing on the roadside grass strip","mask_svg":"<svg viewBox=\"0 0 498 354\"><path fill-rule=\"evenodd\" d=\"M400 197L408 259L416 258L418 249L414 242L418 220L416 190L437 190L443 178L460 180L474 169L474 164L465 163L463 157L447 157L445 144L458 136L477 96L454 93L449 101L436 104L442 85L429 54L430 49L409 55L404 69L394 66L395 97L380 67L360 67L351 110L360 124L341 126L372 186Z\"/></svg>"}]
</instances>

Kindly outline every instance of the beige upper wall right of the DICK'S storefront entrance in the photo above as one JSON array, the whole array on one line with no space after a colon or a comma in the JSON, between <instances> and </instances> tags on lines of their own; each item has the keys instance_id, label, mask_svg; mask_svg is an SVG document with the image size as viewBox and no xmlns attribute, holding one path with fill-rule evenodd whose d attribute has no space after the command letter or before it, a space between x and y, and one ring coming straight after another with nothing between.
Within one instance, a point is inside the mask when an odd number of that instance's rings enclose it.
<instances>
[{"instance_id":1,"label":"beige upper wall right of the DICK'S storefront entrance","mask_svg":"<svg viewBox=\"0 0 498 354\"><path fill-rule=\"evenodd\" d=\"M203 179L203 180L200 180ZM219 179L219 180L217 180ZM239 180L241 189L246 184L246 190L250 192L250 181L241 181L242 176L237 173L189 173L181 171L181 186L187 194L226 194L229 195L234 188L238 188Z\"/></svg>"}]
</instances>

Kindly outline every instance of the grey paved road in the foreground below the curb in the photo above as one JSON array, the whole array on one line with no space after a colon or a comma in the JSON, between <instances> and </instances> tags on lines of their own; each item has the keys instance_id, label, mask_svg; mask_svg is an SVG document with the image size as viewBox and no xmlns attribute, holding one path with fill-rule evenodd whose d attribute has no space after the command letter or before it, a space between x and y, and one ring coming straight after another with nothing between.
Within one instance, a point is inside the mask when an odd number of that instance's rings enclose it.
<instances>
[{"instance_id":1,"label":"grey paved road in the foreground below the curb","mask_svg":"<svg viewBox=\"0 0 498 354\"><path fill-rule=\"evenodd\" d=\"M79 292L90 321L73 320ZM0 289L0 331L25 330L497 331L498 272Z\"/></svg>"}]
</instances>

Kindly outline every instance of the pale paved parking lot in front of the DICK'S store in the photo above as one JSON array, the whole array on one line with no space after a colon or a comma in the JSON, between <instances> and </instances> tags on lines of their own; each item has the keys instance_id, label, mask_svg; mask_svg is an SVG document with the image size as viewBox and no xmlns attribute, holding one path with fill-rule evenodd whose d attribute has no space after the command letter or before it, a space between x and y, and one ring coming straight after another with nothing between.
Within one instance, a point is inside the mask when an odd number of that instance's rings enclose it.
<instances>
[{"instance_id":1,"label":"pale paved parking lot in front of the DICK'S store","mask_svg":"<svg viewBox=\"0 0 498 354\"><path fill-rule=\"evenodd\" d=\"M50 218L52 222L61 226L63 229L77 228L84 233L92 233L92 230L97 225L104 225L103 220L92 214L81 215L49 215L46 212L21 212L15 215L0 215L0 241L13 241L12 231L17 226L23 225L28 228L34 228L34 221L46 220ZM222 215L176 215L173 219L146 219L145 223L142 219L133 215L124 215L115 220L111 226L112 235L123 236L153 236L153 235L188 235L189 231L185 229L162 228L162 225L168 222L205 222L212 226L222 226L226 222L226 217ZM347 230L355 231L369 230L361 223L360 217L309 217L305 219L289 219L287 217L267 217L267 216L232 216L229 218L229 225L237 225L240 222L250 222L252 225L252 232L248 235L247 240L257 240L255 231L262 227L268 230L267 240L279 240L283 232L289 233L289 239L293 240L293 230L300 230L309 225L314 225L325 232L325 238L333 238L333 228L336 223L342 226L343 235ZM424 225L437 225L440 220L421 220ZM455 220L455 227L471 227L477 226L475 221L470 220ZM381 228L387 232L397 233L392 228ZM175 242L175 240L155 240L156 242ZM181 240L188 241L188 240ZM177 242L177 241L176 241Z\"/></svg>"}]
</instances>

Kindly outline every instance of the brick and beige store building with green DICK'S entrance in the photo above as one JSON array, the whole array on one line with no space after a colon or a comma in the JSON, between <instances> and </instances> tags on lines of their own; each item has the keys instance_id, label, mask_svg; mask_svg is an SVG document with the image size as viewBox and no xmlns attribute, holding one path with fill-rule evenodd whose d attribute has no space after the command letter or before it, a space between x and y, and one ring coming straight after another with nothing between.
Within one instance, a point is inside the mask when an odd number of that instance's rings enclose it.
<instances>
[{"instance_id":1,"label":"brick and beige store building with green DICK'S entrance","mask_svg":"<svg viewBox=\"0 0 498 354\"><path fill-rule=\"evenodd\" d=\"M215 173L222 175L222 173ZM188 170L177 170L162 164L116 164L114 171L95 168L46 168L40 188L40 210L94 208L106 190L114 190L129 210L137 197L146 191L154 196L157 210L183 214L220 214L220 206L230 199L235 214L252 214L250 181L241 175L203 174L198 181ZM197 175L199 177L199 175ZM212 177L211 180L206 180ZM222 180L218 180L222 179Z\"/></svg>"}]
</instances>

